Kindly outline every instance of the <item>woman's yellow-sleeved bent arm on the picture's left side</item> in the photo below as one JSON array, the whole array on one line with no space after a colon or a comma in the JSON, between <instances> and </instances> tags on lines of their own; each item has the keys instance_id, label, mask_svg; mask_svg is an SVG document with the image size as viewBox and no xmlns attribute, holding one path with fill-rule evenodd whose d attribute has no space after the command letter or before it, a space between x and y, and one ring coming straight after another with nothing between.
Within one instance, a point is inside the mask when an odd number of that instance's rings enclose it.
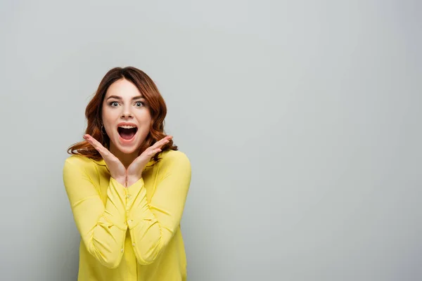
<instances>
[{"instance_id":1,"label":"woman's yellow-sleeved bent arm on the picture's left side","mask_svg":"<svg viewBox=\"0 0 422 281\"><path fill-rule=\"evenodd\" d=\"M87 250L103 266L116 268L122 260L127 226L124 186L110 178L104 206L96 186L84 171L83 163L66 159L63 183L77 230Z\"/></svg>"}]
</instances>

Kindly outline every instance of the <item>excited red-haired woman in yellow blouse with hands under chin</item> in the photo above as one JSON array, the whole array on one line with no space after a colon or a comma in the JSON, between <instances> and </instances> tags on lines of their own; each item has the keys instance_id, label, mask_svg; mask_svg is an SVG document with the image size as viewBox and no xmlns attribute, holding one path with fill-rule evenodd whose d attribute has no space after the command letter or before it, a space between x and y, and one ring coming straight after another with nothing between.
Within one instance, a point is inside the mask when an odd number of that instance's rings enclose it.
<instances>
[{"instance_id":1,"label":"excited red-haired woman in yellow blouse with hands under chin","mask_svg":"<svg viewBox=\"0 0 422 281\"><path fill-rule=\"evenodd\" d=\"M164 133L167 109L147 74L116 67L85 111L63 182L79 246L79 281L186 280L180 220L191 164Z\"/></svg>"}]
</instances>

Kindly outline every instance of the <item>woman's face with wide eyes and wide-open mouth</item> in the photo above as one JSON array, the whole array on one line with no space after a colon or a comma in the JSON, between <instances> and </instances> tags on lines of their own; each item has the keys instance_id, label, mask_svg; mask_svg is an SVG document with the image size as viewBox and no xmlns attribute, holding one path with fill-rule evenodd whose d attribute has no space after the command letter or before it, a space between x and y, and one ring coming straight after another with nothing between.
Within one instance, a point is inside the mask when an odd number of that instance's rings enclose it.
<instances>
[{"instance_id":1,"label":"woman's face with wide eyes and wide-open mouth","mask_svg":"<svg viewBox=\"0 0 422 281\"><path fill-rule=\"evenodd\" d=\"M115 81L103 101L103 124L110 138L110 151L137 153L148 136L151 114L146 100L132 82Z\"/></svg>"}]
</instances>

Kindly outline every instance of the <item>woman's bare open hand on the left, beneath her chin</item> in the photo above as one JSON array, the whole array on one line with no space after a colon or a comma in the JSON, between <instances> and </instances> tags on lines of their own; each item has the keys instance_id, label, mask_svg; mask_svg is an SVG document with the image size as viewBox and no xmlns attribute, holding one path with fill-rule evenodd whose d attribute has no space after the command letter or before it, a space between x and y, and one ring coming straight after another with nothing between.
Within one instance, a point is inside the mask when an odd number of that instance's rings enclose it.
<instances>
[{"instance_id":1,"label":"woman's bare open hand on the left, beneath her chin","mask_svg":"<svg viewBox=\"0 0 422 281\"><path fill-rule=\"evenodd\" d=\"M110 171L110 176L115 178L116 181L126 185L126 168L120 162L119 158L115 157L107 148L98 142L95 138L90 136L88 133L84 135L84 139L90 143L94 148L100 152L101 156L106 162L108 170Z\"/></svg>"}]
</instances>

